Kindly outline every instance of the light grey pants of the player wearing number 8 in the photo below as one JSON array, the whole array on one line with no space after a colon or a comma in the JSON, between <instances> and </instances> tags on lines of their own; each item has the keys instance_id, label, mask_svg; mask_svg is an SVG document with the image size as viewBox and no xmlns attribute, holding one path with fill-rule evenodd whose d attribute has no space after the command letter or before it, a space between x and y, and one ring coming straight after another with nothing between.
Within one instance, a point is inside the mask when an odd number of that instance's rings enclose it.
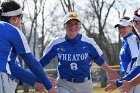
<instances>
[{"instance_id":1,"label":"light grey pants of the player wearing number 8","mask_svg":"<svg viewBox=\"0 0 140 93\"><path fill-rule=\"evenodd\" d=\"M58 79L58 93L93 93L93 82L88 80L83 83L73 83Z\"/></svg>"}]
</instances>

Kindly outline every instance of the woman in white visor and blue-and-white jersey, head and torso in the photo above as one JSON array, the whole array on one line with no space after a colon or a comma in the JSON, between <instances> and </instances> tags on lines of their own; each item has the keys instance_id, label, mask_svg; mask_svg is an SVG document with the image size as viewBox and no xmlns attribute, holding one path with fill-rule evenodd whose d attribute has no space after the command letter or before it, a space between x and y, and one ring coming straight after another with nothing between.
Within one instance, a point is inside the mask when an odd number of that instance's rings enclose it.
<instances>
[{"instance_id":1,"label":"woman in white visor and blue-and-white jersey, head and torso","mask_svg":"<svg viewBox=\"0 0 140 93\"><path fill-rule=\"evenodd\" d=\"M129 22L129 19L129 17L123 17L119 23L115 25L115 28L118 27L118 31L121 37L123 37L123 44L119 55L121 73L130 72L139 55L139 43L137 36L133 34L133 26L132 23Z\"/></svg>"}]
</instances>

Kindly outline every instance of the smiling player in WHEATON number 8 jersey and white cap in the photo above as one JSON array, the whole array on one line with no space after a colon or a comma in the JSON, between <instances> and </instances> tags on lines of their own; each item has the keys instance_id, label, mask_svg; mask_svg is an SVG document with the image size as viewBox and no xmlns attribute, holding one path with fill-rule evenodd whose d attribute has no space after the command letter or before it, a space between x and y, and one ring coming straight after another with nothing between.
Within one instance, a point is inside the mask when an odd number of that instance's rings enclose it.
<instances>
[{"instance_id":1,"label":"smiling player in WHEATON number 8 jersey and white cap","mask_svg":"<svg viewBox=\"0 0 140 93\"><path fill-rule=\"evenodd\" d=\"M58 59L59 93L93 93L91 60L105 69L110 79L119 76L106 64L102 50L93 38L79 33L81 21L76 12L69 12L64 19L65 37L56 38L45 49L40 63L45 67L52 58Z\"/></svg>"}]
</instances>

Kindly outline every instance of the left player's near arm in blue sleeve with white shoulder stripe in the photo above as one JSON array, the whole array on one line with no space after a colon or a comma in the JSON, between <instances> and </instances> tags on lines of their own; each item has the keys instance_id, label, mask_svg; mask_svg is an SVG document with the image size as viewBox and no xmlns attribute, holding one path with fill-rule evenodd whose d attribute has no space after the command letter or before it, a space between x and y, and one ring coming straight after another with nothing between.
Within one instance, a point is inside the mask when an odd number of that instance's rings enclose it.
<instances>
[{"instance_id":1,"label":"left player's near arm in blue sleeve with white shoulder stripe","mask_svg":"<svg viewBox=\"0 0 140 93\"><path fill-rule=\"evenodd\" d=\"M38 79L41 80L45 88L47 90L52 90L53 86L46 76L46 73L43 71L41 64L33 57L32 53L30 52L30 48L24 34L16 28L12 29L11 34L12 37L9 38L9 41L12 43L15 52L23 58L25 64L38 77Z\"/></svg>"}]
</instances>

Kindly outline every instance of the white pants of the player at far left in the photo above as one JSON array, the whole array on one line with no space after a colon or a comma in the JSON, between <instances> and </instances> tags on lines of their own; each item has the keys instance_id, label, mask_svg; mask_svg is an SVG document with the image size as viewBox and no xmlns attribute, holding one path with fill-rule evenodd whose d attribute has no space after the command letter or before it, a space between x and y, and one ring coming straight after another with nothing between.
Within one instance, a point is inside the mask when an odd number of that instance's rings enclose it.
<instances>
[{"instance_id":1,"label":"white pants of the player at far left","mask_svg":"<svg viewBox=\"0 0 140 93\"><path fill-rule=\"evenodd\" d=\"M15 93L16 86L7 73L0 72L0 93Z\"/></svg>"}]
</instances>

